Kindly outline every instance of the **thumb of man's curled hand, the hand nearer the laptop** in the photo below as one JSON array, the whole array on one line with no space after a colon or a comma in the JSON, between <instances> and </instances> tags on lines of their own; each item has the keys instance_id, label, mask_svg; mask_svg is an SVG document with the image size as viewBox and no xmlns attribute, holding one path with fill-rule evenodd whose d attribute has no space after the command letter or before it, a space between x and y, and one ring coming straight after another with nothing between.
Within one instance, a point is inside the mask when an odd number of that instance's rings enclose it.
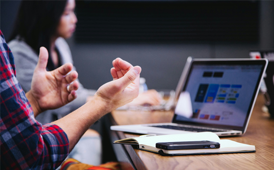
<instances>
[{"instance_id":1,"label":"thumb of man's curled hand, the hand nearer the laptop","mask_svg":"<svg viewBox=\"0 0 274 170\"><path fill-rule=\"evenodd\" d=\"M125 76L123 76L122 78L116 81L119 82L122 90L124 90L131 83L135 83L137 86L139 86L139 79L137 78L140 75L140 73L141 73L141 68L139 66L135 66L130 71L128 71L125 74Z\"/></svg>"}]
</instances>

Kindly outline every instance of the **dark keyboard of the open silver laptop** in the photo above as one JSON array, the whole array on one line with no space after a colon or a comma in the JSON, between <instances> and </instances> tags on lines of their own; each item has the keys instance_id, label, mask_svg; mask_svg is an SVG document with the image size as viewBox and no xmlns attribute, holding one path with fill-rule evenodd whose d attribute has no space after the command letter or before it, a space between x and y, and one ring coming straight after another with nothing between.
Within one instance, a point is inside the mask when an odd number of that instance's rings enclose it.
<instances>
[{"instance_id":1,"label":"dark keyboard of the open silver laptop","mask_svg":"<svg viewBox=\"0 0 274 170\"><path fill-rule=\"evenodd\" d=\"M226 131L228 131L228 130L223 130L223 129L211 129L211 128L200 129L200 128L183 127L183 126L172 126L172 125L157 125L157 126L151 126L151 127L184 130L184 131L190 131L190 132L226 132Z\"/></svg>"}]
</instances>

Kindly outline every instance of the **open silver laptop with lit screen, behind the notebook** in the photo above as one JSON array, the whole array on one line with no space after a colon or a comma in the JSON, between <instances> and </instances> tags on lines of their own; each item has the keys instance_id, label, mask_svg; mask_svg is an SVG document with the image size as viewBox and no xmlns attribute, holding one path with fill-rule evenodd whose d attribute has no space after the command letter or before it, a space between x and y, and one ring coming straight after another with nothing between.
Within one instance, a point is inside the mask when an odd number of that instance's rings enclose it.
<instances>
[{"instance_id":1,"label":"open silver laptop with lit screen, behind the notebook","mask_svg":"<svg viewBox=\"0 0 274 170\"><path fill-rule=\"evenodd\" d=\"M180 91L172 123L118 125L111 130L156 135L243 135L267 65L267 59L193 59L177 85ZM189 106L182 107L185 103Z\"/></svg>"}]
</instances>

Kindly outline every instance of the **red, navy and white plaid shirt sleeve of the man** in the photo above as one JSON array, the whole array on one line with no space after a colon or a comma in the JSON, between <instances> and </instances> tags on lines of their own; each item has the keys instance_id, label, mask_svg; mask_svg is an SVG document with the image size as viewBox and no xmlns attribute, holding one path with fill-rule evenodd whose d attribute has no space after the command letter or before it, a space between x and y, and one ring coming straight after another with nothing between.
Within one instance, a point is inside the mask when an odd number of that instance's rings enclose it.
<instances>
[{"instance_id":1,"label":"red, navy and white plaid shirt sleeve of the man","mask_svg":"<svg viewBox=\"0 0 274 170\"><path fill-rule=\"evenodd\" d=\"M54 170L68 155L67 135L57 125L42 125L34 119L1 31L0 36L0 168Z\"/></svg>"}]
</instances>

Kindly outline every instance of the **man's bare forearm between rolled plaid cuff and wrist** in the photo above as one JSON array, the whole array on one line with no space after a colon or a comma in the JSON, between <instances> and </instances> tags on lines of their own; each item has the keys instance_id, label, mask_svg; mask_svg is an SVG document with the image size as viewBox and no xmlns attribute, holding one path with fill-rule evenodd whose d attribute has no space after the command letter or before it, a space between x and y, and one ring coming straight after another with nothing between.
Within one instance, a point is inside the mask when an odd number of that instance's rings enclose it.
<instances>
[{"instance_id":1,"label":"man's bare forearm between rolled plaid cuff and wrist","mask_svg":"<svg viewBox=\"0 0 274 170\"><path fill-rule=\"evenodd\" d=\"M53 124L61 127L67 134L69 151L74 148L92 124L111 111L109 108L111 107L108 107L108 103L105 100L95 96L77 110L53 122Z\"/></svg>"}]
</instances>

